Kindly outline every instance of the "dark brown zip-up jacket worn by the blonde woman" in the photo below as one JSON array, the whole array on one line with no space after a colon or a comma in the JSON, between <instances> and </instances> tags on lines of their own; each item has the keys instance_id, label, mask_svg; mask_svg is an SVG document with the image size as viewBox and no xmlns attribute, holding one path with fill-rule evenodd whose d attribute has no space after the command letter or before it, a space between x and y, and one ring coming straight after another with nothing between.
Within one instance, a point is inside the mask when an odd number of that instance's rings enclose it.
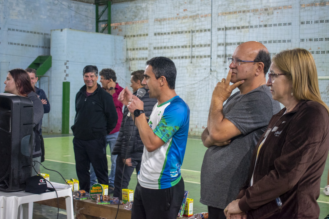
<instances>
[{"instance_id":1,"label":"dark brown zip-up jacket worn by the blonde woman","mask_svg":"<svg viewBox=\"0 0 329 219\"><path fill-rule=\"evenodd\" d=\"M289 113L285 111L271 118L237 197L248 219L319 217L316 200L329 150L328 112L321 104L308 100L300 101ZM257 148L265 137L256 160Z\"/></svg>"}]
</instances>

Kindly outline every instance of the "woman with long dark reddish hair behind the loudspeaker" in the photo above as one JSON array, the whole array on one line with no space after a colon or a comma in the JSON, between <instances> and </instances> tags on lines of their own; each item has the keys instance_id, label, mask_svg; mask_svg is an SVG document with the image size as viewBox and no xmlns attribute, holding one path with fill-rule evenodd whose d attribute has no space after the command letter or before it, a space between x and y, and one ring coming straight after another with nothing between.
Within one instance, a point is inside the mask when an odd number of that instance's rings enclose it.
<instances>
[{"instance_id":1,"label":"woman with long dark reddish hair behind the loudspeaker","mask_svg":"<svg viewBox=\"0 0 329 219\"><path fill-rule=\"evenodd\" d=\"M33 160L41 162L41 147L39 137L38 124L43 117L43 106L38 95L34 92L34 87L31 85L30 76L23 69L13 69L8 72L7 78L4 82L6 84L5 91L10 94L23 96L29 98L33 103ZM34 162L32 176L37 175L40 170L40 164Z\"/></svg>"}]
</instances>

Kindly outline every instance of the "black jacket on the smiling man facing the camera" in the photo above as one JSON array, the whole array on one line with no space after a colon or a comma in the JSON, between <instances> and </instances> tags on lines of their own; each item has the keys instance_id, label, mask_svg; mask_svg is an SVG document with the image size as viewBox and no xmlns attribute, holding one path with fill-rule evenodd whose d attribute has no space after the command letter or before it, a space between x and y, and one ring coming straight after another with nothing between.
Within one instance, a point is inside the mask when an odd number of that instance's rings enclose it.
<instances>
[{"instance_id":1,"label":"black jacket on the smiling man facing the camera","mask_svg":"<svg viewBox=\"0 0 329 219\"><path fill-rule=\"evenodd\" d=\"M112 96L97 84L89 97L83 86L75 97L75 119L71 127L74 137L93 140L110 133L118 120Z\"/></svg>"}]
</instances>

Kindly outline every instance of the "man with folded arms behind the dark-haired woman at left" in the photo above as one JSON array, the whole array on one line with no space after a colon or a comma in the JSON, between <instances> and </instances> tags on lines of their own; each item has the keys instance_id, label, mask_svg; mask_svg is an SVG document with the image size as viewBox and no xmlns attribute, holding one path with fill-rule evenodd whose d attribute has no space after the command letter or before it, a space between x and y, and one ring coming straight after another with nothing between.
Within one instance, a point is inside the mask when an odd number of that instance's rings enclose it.
<instances>
[{"instance_id":1,"label":"man with folded arms behind the dark-haired woman at left","mask_svg":"<svg viewBox=\"0 0 329 219\"><path fill-rule=\"evenodd\" d=\"M25 69L25 71L30 76L32 87L34 87L34 90L35 90L36 94L38 95L38 98L41 99L41 102L43 104L43 113L44 114L49 113L50 103L47 99L47 95L41 88L38 88L36 86L36 83L38 81L36 70L33 69L33 68L27 68L27 69ZM42 128L41 128L41 126L42 126L42 120L40 121L40 124L39 124L39 128L40 128L39 132L40 132L41 153L42 153L41 154L41 162L44 162L44 142L43 142L43 138L42 138Z\"/></svg>"}]
</instances>

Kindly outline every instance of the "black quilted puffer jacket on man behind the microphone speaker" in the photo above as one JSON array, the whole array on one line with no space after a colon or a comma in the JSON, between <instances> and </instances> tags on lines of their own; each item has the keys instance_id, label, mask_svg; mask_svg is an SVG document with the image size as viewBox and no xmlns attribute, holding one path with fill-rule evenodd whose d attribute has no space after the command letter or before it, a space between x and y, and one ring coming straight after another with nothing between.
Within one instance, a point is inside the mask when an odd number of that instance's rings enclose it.
<instances>
[{"instance_id":1,"label":"black quilted puffer jacket on man behind the microphone speaker","mask_svg":"<svg viewBox=\"0 0 329 219\"><path fill-rule=\"evenodd\" d=\"M158 101L155 98L150 98L150 96L147 92L148 89L145 89L145 90L146 90L146 94L144 97L141 98L141 101L144 102L145 116L149 117L152 113L154 105ZM137 91L134 93L134 95L136 95L136 93L137 93ZM113 155L119 154L120 157L122 157L122 158L124 158L126 156L127 142L128 142L126 137L124 136L124 133L127 136L127 138L129 139L131 132L133 130L133 126L134 126L134 121L131 118L129 118L129 122L127 120L125 127L123 127L124 120L126 119L127 114L128 114L128 108L125 107L124 112L123 112L123 120L121 122L119 135L115 142L115 146L114 146L114 149L112 152ZM128 128L129 128L129 133L128 133ZM143 148L144 148L144 144L143 144L142 140L140 139L138 129L135 126L133 135L129 141L127 158L131 158L131 154L133 154L133 153L143 153Z\"/></svg>"}]
</instances>

